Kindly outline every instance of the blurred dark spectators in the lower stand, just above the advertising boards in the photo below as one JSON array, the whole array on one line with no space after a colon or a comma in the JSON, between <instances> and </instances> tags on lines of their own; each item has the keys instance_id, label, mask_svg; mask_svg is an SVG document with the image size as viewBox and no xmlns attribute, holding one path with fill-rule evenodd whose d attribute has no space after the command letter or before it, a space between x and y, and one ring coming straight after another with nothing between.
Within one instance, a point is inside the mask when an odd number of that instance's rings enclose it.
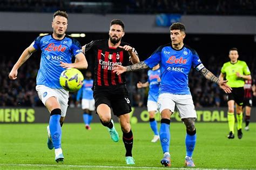
<instances>
[{"instance_id":1,"label":"blurred dark spectators in the lower stand, just above the advertising boards","mask_svg":"<svg viewBox=\"0 0 256 170\"><path fill-rule=\"evenodd\" d=\"M10 60L10 58L6 56L2 56L1 59L2 62L0 66L3 69L0 72L0 106L43 106L35 90L40 57L29 59L29 61L18 70L18 77L16 80L10 80L8 78L8 74L14 65L14 62L16 62L16 59ZM219 76L221 66L224 63L223 59L211 56L204 61L206 68L213 74ZM255 79L256 69L255 65L253 65L255 59L251 57L247 60L247 63L250 66L252 77L254 75ZM142 81L143 83L147 81L147 70L127 73L126 80L132 106L146 106L147 92L149 89L137 89L136 84L138 81ZM189 86L194 105L197 108L227 105L226 94L219 89L218 85L206 80L194 69L191 69L190 72ZM77 93L70 93L69 107L76 107L76 95Z\"/></svg>"}]
</instances>

